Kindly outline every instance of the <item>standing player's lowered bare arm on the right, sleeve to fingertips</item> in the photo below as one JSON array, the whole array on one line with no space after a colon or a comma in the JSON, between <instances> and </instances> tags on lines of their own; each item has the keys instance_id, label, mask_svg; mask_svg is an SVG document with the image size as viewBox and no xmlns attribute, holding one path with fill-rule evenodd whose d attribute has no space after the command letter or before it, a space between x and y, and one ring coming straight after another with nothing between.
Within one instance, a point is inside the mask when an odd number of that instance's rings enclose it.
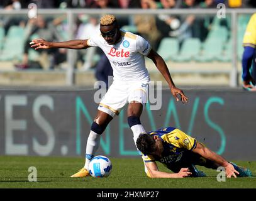
<instances>
[{"instance_id":1,"label":"standing player's lowered bare arm on the right, sleeve to fingertips","mask_svg":"<svg viewBox=\"0 0 256 201\"><path fill-rule=\"evenodd\" d=\"M157 69L160 71L160 73L162 73L162 75L164 76L164 79L168 83L170 90L172 92L172 95L174 95L175 99L177 101L179 101L178 96L180 95L181 101L183 103L187 102L188 98L186 97L184 92L181 89L175 87L175 84L172 81L172 77L170 76L170 72L167 68L166 63L164 62L164 59L154 50L151 50L147 57L150 58L153 61L153 63L155 63L155 66L157 67Z\"/></svg>"}]
</instances>

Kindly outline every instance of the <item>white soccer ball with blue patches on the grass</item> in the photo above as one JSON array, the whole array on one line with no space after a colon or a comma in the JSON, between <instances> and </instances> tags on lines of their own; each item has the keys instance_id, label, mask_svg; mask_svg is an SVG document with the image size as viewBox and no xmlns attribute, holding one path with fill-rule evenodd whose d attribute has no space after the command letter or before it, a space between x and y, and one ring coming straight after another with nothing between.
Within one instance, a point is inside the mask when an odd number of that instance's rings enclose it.
<instances>
[{"instance_id":1,"label":"white soccer ball with blue patches on the grass","mask_svg":"<svg viewBox=\"0 0 256 201\"><path fill-rule=\"evenodd\" d=\"M89 173L92 177L108 177L111 170L111 161L106 156L95 156L89 163Z\"/></svg>"}]
</instances>

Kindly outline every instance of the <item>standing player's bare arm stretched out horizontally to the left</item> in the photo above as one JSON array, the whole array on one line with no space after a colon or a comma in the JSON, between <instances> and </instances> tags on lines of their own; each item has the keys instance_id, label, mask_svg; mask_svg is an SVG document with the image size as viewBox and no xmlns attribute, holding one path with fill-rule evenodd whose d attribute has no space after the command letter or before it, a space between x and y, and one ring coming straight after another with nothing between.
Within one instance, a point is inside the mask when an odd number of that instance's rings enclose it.
<instances>
[{"instance_id":1,"label":"standing player's bare arm stretched out horizontally to the left","mask_svg":"<svg viewBox=\"0 0 256 201\"><path fill-rule=\"evenodd\" d=\"M50 48L68 48L68 49L85 49L89 46L87 45L87 40L70 40L64 42L50 42L43 39L36 39L30 42L31 48L35 50L39 49L50 49Z\"/></svg>"}]
</instances>

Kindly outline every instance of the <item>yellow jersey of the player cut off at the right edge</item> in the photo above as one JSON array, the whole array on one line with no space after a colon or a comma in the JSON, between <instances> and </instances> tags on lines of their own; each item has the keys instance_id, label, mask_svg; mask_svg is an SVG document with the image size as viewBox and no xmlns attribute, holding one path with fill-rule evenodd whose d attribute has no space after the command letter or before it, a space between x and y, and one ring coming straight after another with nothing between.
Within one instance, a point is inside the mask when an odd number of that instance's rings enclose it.
<instances>
[{"instance_id":1,"label":"yellow jersey of the player cut off at the right edge","mask_svg":"<svg viewBox=\"0 0 256 201\"><path fill-rule=\"evenodd\" d=\"M243 36L243 46L256 48L256 13L252 15Z\"/></svg>"}]
</instances>

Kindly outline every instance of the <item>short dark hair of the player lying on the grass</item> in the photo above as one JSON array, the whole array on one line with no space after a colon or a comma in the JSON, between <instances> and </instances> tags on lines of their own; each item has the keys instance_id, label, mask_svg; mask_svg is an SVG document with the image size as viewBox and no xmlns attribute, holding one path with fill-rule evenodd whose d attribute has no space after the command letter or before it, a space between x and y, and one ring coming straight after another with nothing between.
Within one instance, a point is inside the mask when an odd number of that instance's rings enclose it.
<instances>
[{"instance_id":1,"label":"short dark hair of the player lying on the grass","mask_svg":"<svg viewBox=\"0 0 256 201\"><path fill-rule=\"evenodd\" d=\"M155 139L152 134L140 134L136 140L136 146L144 155L152 155L156 151Z\"/></svg>"}]
</instances>

